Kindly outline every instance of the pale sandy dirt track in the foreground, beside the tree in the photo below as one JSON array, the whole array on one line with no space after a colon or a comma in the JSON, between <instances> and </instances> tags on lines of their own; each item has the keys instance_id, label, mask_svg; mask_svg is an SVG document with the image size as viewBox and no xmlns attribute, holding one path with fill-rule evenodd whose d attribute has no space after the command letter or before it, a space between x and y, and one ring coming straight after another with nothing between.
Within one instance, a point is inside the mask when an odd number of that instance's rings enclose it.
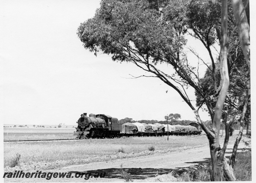
<instances>
[{"instance_id":1,"label":"pale sandy dirt track in the foreground, beside the tree","mask_svg":"<svg viewBox=\"0 0 256 183\"><path fill-rule=\"evenodd\" d=\"M244 137L243 137L244 139ZM229 156L233 148L233 143L228 144L226 156ZM247 148L244 143L239 143L239 151ZM153 155L146 155L133 158L117 159L113 161L88 163L84 165L72 165L62 167L44 172L71 172L73 178L52 178L46 180L45 178L5 178L4 182L124 182L121 179L121 168L128 169L131 173L131 178L134 181L150 180L150 177L156 175L167 174L174 169L181 167L188 167L196 163L209 161L210 153L209 146L199 147L194 149L168 152L168 153L155 153ZM106 172L105 178L92 177L97 172ZM83 178L75 178L75 174L91 173L88 180ZM89 174L87 174L89 175ZM151 178L152 179L152 178Z\"/></svg>"}]
</instances>

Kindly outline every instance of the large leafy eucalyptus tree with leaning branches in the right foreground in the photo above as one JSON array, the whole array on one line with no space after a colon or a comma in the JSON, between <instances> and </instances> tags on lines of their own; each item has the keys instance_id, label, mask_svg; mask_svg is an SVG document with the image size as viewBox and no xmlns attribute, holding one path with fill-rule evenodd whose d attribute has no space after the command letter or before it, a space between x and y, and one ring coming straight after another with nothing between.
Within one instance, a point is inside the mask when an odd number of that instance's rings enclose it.
<instances>
[{"instance_id":1,"label":"large leafy eucalyptus tree with leaning branches in the right foreground","mask_svg":"<svg viewBox=\"0 0 256 183\"><path fill-rule=\"evenodd\" d=\"M209 139L212 159L211 179L214 181L235 180L233 169L224 156L228 144L228 136L220 148L220 124L222 110L229 88L228 49L229 39L237 27L239 39L247 67L250 66L250 38L244 18L244 8L241 2L233 0L234 14L243 17L237 20L233 16L231 5L227 0L102 0L92 19L81 23L77 30L84 48L94 52L110 54L112 60L135 64L148 75L157 77L180 94L182 99L194 111L197 122L206 132ZM239 8L237 8L239 6ZM238 16L238 17L239 17ZM231 24L231 28L228 27ZM240 24L243 23L243 26ZM248 23L247 23L248 24ZM244 28L246 27L245 31ZM230 33L228 37L228 33ZM242 34L242 36L240 36ZM209 54L211 65L198 56L198 61L189 60L184 51L190 35L200 40L203 48ZM249 42L248 42L249 41ZM220 45L220 58L213 57L214 44ZM202 48L199 48L202 49ZM249 50L249 51L248 51ZM249 56L248 56L249 55ZM204 64L212 77L212 91L208 95L202 88L199 76L199 65ZM219 63L219 68L216 67ZM162 71L159 65L170 65L170 71ZM220 80L216 79L220 72ZM141 76L138 76L141 77ZM202 98L198 108L191 103L186 89L192 87ZM212 99L213 97L213 99ZM214 102L212 102L214 100ZM212 129L201 121L198 109L205 105L212 120ZM246 102L245 105L247 106ZM246 108L246 107L245 107ZM227 112L224 112L227 116ZM228 120L225 118L226 134L236 115Z\"/></svg>"}]
</instances>

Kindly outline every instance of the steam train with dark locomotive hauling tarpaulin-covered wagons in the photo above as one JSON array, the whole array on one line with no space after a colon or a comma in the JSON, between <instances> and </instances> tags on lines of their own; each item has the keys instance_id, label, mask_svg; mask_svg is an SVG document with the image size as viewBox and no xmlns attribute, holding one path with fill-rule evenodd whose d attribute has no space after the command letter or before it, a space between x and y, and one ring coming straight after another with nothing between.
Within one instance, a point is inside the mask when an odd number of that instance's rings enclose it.
<instances>
[{"instance_id":1,"label":"steam train with dark locomotive hauling tarpaulin-covered wagons","mask_svg":"<svg viewBox=\"0 0 256 183\"><path fill-rule=\"evenodd\" d=\"M167 135L167 124L124 123L120 124L117 118L104 114L81 114L74 132L76 138L114 138L122 136L162 136ZM170 135L197 135L201 134L201 126L190 123L188 126L168 125Z\"/></svg>"}]
</instances>

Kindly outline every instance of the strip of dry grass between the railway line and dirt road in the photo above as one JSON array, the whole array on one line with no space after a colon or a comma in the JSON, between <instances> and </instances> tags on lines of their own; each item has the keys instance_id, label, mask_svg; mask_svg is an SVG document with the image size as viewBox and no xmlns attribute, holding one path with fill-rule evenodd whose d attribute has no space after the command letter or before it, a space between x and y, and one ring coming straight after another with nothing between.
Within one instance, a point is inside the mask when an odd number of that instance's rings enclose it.
<instances>
[{"instance_id":1,"label":"strip of dry grass between the railway line and dirt road","mask_svg":"<svg viewBox=\"0 0 256 183\"><path fill-rule=\"evenodd\" d=\"M66 141L4 142L4 166L9 166L11 158L19 153L20 162L55 162L61 160L86 159L104 155L115 155L123 148L126 154L156 150L177 151L208 145L207 137L171 136L129 137L120 139L85 139Z\"/></svg>"}]
</instances>

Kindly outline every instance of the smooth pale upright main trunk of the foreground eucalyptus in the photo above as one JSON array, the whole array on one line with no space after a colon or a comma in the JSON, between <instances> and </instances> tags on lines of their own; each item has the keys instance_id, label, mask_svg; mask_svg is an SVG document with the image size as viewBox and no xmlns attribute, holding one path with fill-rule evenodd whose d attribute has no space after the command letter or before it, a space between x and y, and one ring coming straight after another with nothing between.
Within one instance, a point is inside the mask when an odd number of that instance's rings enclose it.
<instances>
[{"instance_id":1,"label":"smooth pale upright main trunk of the foreground eucalyptus","mask_svg":"<svg viewBox=\"0 0 256 183\"><path fill-rule=\"evenodd\" d=\"M220 40L220 78L221 80L220 80L220 86L218 89L219 96L215 106L215 113L213 117L212 130L211 130L214 133L214 136L209 137L207 135L210 143L210 152L211 152L211 159L212 159L212 173L211 173L212 181L223 180L222 163L223 163L223 158L226 150L226 149L220 149L219 134L220 134L222 109L224 106L224 101L226 99L228 86L229 86L228 60L227 60L227 57L228 57L228 1L227 0L222 0L221 2L221 35L220 37L221 37L221 40ZM227 130L229 130L229 128Z\"/></svg>"}]
</instances>

